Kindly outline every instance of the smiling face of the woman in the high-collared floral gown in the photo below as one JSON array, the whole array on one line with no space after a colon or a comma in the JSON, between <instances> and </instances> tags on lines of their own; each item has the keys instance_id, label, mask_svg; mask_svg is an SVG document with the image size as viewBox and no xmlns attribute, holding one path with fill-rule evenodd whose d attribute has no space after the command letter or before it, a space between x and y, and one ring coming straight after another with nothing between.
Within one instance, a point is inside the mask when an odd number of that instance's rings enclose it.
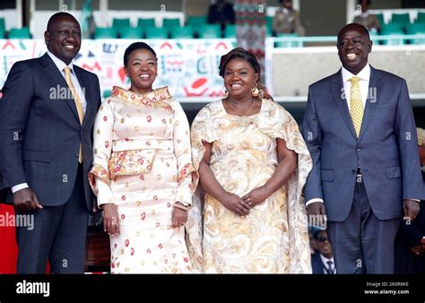
<instances>
[{"instance_id":1,"label":"smiling face of the woman in the high-collared floral gown","mask_svg":"<svg viewBox=\"0 0 425 303\"><path fill-rule=\"evenodd\" d=\"M157 59L152 52L145 48L134 49L124 67L130 77L130 91L140 94L152 91L152 84L157 76Z\"/></svg>"}]
</instances>

